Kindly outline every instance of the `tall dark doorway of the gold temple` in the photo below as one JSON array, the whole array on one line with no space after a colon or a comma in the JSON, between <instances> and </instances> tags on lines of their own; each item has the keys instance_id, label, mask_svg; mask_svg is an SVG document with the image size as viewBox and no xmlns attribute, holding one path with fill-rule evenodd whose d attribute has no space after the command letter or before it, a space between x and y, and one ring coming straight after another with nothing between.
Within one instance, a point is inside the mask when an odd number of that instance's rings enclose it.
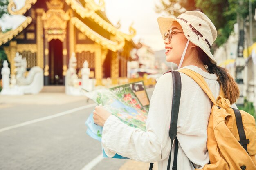
<instances>
[{"instance_id":1,"label":"tall dark doorway of the gold temple","mask_svg":"<svg viewBox=\"0 0 256 170\"><path fill-rule=\"evenodd\" d=\"M63 85L63 56L62 42L51 40L49 42L49 85Z\"/></svg>"}]
</instances>

